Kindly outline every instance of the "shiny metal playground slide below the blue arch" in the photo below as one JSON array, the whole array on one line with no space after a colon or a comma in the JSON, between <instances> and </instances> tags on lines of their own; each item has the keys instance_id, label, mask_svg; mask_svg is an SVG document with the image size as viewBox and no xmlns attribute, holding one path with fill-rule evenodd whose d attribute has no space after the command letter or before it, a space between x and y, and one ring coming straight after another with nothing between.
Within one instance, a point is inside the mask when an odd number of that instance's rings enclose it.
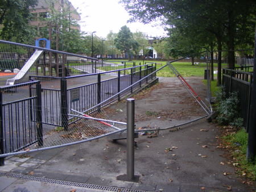
<instances>
[{"instance_id":1,"label":"shiny metal playground slide below the blue arch","mask_svg":"<svg viewBox=\"0 0 256 192\"><path fill-rule=\"evenodd\" d=\"M20 69L19 73L16 74L14 78L10 78L7 80L6 85L15 85L22 81L22 79L26 76L28 70L31 68L33 64L39 59L39 57L42 55L42 50L36 50L34 54L28 59L26 64L23 66L22 69Z\"/></svg>"}]
</instances>

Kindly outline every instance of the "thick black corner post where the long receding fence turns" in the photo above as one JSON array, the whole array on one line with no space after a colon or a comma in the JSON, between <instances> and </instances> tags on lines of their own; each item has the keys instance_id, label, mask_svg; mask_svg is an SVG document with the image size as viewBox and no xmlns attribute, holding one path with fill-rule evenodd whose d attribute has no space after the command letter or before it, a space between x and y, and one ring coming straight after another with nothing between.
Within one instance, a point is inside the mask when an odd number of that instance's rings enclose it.
<instances>
[{"instance_id":1,"label":"thick black corner post where the long receding fence turns","mask_svg":"<svg viewBox=\"0 0 256 192\"><path fill-rule=\"evenodd\" d=\"M68 131L68 91L67 91L67 80L61 78L60 81L60 100L61 100L61 126L64 127L65 131Z\"/></svg>"}]
</instances>

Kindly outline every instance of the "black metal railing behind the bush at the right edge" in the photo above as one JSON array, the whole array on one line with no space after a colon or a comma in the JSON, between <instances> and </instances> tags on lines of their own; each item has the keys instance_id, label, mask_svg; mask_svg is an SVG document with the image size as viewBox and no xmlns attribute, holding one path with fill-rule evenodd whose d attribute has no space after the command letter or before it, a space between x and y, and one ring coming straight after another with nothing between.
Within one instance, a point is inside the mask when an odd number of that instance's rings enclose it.
<instances>
[{"instance_id":1,"label":"black metal railing behind the bush at the right edge","mask_svg":"<svg viewBox=\"0 0 256 192\"><path fill-rule=\"evenodd\" d=\"M253 81L253 73L251 67L243 67L236 69L222 70L222 85L226 94L236 91L240 98L240 115L243 118L243 126L246 128L249 125L250 98L251 98L251 82Z\"/></svg>"}]
</instances>

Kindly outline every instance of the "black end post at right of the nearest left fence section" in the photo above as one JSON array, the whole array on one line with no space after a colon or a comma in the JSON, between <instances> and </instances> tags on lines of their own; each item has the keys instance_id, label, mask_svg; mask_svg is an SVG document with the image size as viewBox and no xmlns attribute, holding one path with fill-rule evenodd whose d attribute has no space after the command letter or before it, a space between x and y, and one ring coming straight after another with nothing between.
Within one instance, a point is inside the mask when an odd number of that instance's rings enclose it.
<instances>
[{"instance_id":1,"label":"black end post at right of the nearest left fence section","mask_svg":"<svg viewBox=\"0 0 256 192\"><path fill-rule=\"evenodd\" d=\"M42 93L40 82L36 83L36 137L38 139L38 145L43 146Z\"/></svg>"}]
</instances>

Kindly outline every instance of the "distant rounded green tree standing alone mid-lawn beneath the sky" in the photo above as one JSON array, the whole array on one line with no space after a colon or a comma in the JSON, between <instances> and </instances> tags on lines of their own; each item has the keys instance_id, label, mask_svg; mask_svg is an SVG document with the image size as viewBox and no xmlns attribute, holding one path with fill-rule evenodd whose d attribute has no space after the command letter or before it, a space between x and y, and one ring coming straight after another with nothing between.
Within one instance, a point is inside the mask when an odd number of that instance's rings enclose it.
<instances>
[{"instance_id":1,"label":"distant rounded green tree standing alone mid-lawn beneath the sky","mask_svg":"<svg viewBox=\"0 0 256 192\"><path fill-rule=\"evenodd\" d=\"M133 33L127 26L121 27L114 41L117 49L127 53L129 61L133 52L139 47L138 42L133 38Z\"/></svg>"}]
</instances>

